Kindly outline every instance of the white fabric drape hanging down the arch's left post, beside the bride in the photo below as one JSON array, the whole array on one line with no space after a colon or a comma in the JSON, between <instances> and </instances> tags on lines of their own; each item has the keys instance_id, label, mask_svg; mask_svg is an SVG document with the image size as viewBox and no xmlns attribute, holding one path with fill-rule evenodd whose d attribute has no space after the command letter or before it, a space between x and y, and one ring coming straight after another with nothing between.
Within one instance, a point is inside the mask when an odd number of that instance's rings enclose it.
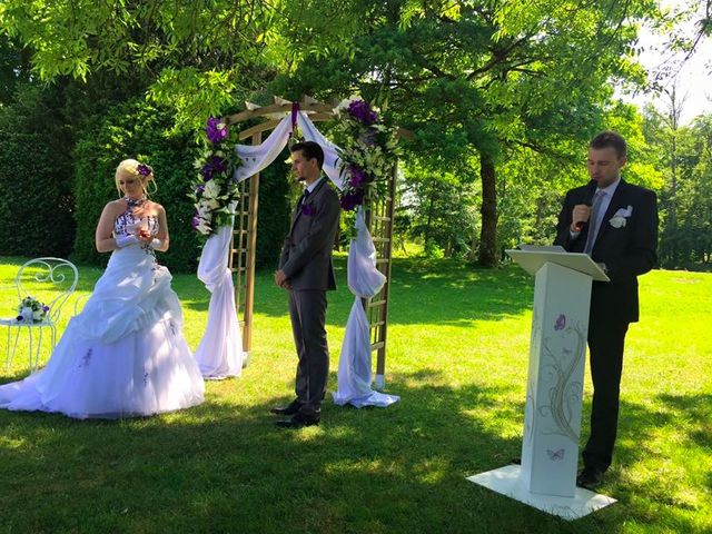
<instances>
[{"instance_id":1,"label":"white fabric drape hanging down the arch's left post, beside the bride","mask_svg":"<svg viewBox=\"0 0 712 534\"><path fill-rule=\"evenodd\" d=\"M208 325L195 354L205 378L221 379L243 372L243 336L235 308L233 274L227 267L231 237L233 225L218 228L202 247L198 264L198 278L212 294Z\"/></svg>"}]
</instances>

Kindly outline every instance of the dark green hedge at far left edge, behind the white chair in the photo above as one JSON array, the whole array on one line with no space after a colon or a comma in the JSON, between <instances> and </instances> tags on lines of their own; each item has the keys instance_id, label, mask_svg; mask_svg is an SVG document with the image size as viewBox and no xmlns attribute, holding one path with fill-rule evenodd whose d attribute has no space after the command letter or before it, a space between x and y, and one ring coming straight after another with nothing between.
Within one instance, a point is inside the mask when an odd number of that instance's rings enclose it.
<instances>
[{"instance_id":1,"label":"dark green hedge at far left edge, behind the white chair","mask_svg":"<svg viewBox=\"0 0 712 534\"><path fill-rule=\"evenodd\" d=\"M0 254L67 257L75 221L71 132L56 87L20 87L0 106Z\"/></svg>"}]
</instances>

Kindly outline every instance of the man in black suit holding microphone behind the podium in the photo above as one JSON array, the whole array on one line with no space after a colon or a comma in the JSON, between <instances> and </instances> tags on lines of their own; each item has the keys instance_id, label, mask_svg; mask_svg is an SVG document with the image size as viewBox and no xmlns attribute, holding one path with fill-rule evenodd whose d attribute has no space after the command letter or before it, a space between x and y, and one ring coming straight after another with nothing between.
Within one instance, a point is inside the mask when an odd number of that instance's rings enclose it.
<instances>
[{"instance_id":1,"label":"man in black suit holding microphone behind the podium","mask_svg":"<svg viewBox=\"0 0 712 534\"><path fill-rule=\"evenodd\" d=\"M655 194L621 179L625 162L626 144L619 134L604 131L591 141L592 181L566 194L555 240L568 251L591 255L611 278L594 281L591 289L591 437L576 478L589 490L602 482L613 456L625 334L639 319L637 276L657 260Z\"/></svg>"}]
</instances>

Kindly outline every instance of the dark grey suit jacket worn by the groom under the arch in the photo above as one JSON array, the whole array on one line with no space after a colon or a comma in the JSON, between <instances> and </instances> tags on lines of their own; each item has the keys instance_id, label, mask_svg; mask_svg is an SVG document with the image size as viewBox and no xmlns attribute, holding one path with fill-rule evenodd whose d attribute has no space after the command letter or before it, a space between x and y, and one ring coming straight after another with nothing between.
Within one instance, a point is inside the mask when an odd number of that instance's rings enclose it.
<instances>
[{"instance_id":1,"label":"dark grey suit jacket worn by the groom under the arch","mask_svg":"<svg viewBox=\"0 0 712 534\"><path fill-rule=\"evenodd\" d=\"M279 268L293 289L336 289L332 251L340 210L338 195L327 178L322 178L304 206L297 204L279 258Z\"/></svg>"}]
</instances>

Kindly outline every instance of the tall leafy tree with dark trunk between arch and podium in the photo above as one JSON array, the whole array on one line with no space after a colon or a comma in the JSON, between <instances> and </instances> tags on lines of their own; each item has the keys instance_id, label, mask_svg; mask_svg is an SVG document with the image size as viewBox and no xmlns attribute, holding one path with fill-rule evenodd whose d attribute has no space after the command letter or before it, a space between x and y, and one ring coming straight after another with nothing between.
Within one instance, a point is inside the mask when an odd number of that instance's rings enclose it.
<instances>
[{"instance_id":1,"label":"tall leafy tree with dark trunk between arch and podium","mask_svg":"<svg viewBox=\"0 0 712 534\"><path fill-rule=\"evenodd\" d=\"M649 0L355 3L368 27L353 50L304 60L293 87L324 95L358 88L416 132L421 154L474 150L486 266L500 257L497 171L507 150L556 156L563 140L589 138L613 81L644 80L632 57L635 21L656 13Z\"/></svg>"}]
</instances>

